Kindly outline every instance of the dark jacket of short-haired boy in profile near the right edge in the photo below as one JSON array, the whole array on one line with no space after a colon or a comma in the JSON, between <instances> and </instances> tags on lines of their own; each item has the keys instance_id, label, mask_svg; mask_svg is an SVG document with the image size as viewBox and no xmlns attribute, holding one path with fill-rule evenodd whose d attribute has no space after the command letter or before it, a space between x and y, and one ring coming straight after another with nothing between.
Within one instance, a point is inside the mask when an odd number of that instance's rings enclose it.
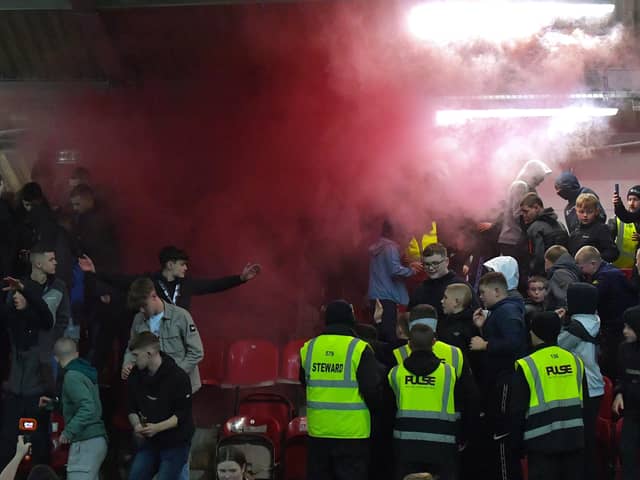
<instances>
[{"instance_id":1,"label":"dark jacket of short-haired boy in profile near the right edge","mask_svg":"<svg viewBox=\"0 0 640 480\"><path fill-rule=\"evenodd\" d=\"M638 295L631 282L619 268L602 262L591 276L591 283L598 289L598 315L603 331L622 332L622 314L638 304Z\"/></svg>"}]
</instances>

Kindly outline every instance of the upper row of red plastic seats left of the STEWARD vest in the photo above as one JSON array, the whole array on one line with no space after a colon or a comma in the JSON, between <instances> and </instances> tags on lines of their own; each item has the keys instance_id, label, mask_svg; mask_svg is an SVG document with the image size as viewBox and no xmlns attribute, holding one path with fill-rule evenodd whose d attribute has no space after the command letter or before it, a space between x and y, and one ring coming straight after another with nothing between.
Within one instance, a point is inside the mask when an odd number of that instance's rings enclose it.
<instances>
[{"instance_id":1,"label":"upper row of red plastic seats left of the STEWARD vest","mask_svg":"<svg viewBox=\"0 0 640 480\"><path fill-rule=\"evenodd\" d=\"M203 385L222 388L262 387L299 383L300 348L306 340L292 340L280 351L261 339L207 342L200 363Z\"/></svg>"}]
</instances>

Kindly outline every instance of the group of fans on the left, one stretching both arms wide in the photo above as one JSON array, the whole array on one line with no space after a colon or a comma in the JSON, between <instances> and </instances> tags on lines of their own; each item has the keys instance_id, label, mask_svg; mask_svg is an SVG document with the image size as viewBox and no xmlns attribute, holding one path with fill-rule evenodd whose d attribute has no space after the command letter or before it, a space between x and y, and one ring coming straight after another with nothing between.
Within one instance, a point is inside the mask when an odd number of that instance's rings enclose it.
<instances>
[{"instance_id":1,"label":"group of fans on the left, one stretching both arms wide","mask_svg":"<svg viewBox=\"0 0 640 480\"><path fill-rule=\"evenodd\" d=\"M129 478L188 479L191 401L204 356L191 299L240 286L260 265L194 279L187 253L166 246L157 272L125 276L115 227L86 169L73 172L60 207L35 182L11 198L0 178L0 193L0 478L12 479L25 456L36 465L29 478L55 478L45 467L56 433L51 411L59 410L66 478L98 479L110 427L100 378L124 356L120 378L137 444Z\"/></svg>"}]
</instances>

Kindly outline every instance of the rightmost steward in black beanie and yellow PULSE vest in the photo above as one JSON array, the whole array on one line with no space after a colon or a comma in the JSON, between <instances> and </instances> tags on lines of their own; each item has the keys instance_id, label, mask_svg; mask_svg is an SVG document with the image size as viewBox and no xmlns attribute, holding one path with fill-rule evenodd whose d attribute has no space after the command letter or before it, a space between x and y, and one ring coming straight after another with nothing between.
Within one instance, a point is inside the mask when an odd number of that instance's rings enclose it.
<instances>
[{"instance_id":1,"label":"rightmost steward in black beanie and yellow PULSE vest","mask_svg":"<svg viewBox=\"0 0 640 480\"><path fill-rule=\"evenodd\" d=\"M589 387L580 357L556 344L561 327L555 312L535 314L533 352L516 361L512 443L528 456L531 480L584 478L582 405Z\"/></svg>"}]
</instances>

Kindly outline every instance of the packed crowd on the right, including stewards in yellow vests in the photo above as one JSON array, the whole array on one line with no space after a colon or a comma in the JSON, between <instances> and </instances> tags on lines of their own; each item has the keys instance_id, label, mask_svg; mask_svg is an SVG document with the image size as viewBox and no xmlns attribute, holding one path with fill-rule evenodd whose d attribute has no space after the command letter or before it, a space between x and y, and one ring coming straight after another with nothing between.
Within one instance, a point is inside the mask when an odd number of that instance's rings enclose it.
<instances>
[{"instance_id":1,"label":"packed crowd on the right, including stewards in yellow vests","mask_svg":"<svg viewBox=\"0 0 640 480\"><path fill-rule=\"evenodd\" d=\"M309 479L517 480L525 457L532 480L596 479L605 377L623 478L637 478L640 186L626 207L612 188L607 223L564 172L563 224L536 192L550 173L528 162L466 249L439 222L403 249L383 223L369 249L377 328L334 301L301 350Z\"/></svg>"}]
</instances>

